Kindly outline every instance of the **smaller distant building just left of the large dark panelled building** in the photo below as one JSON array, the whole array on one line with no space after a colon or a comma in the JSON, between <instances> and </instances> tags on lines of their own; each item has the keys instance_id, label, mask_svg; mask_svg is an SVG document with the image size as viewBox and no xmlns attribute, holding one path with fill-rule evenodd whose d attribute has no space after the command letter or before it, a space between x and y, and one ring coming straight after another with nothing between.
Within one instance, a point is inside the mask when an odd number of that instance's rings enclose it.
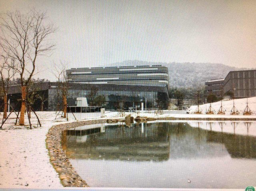
<instances>
[{"instance_id":1,"label":"smaller distant building just left of the large dark panelled building","mask_svg":"<svg viewBox=\"0 0 256 191\"><path fill-rule=\"evenodd\" d=\"M210 80L205 82L206 94L209 95L210 93L212 93L220 97L223 84L224 84L224 79L216 79L216 80Z\"/></svg>"}]
</instances>

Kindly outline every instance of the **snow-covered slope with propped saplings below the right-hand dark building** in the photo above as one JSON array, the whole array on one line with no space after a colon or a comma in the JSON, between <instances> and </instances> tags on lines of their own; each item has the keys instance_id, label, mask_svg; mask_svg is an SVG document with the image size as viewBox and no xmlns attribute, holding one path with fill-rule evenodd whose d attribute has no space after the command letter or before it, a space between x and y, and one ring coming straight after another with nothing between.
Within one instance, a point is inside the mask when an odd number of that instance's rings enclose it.
<instances>
[{"instance_id":1,"label":"snow-covered slope with propped saplings below the right-hand dark building","mask_svg":"<svg viewBox=\"0 0 256 191\"><path fill-rule=\"evenodd\" d=\"M243 115L244 109L246 107L247 98L242 99L234 99L235 107L240 112L240 115ZM220 109L221 101L212 103L212 108L214 109L214 113L218 113L218 110ZM222 106L224 109L226 109L225 114L230 115L231 109L233 107L233 99L232 100L223 100ZM249 97L248 98L248 106L252 110L253 115L256 115L256 97ZM200 105L200 108L202 109L202 113L206 113L206 111L209 109L210 103ZM193 110L197 109L197 106L192 106Z\"/></svg>"}]
</instances>

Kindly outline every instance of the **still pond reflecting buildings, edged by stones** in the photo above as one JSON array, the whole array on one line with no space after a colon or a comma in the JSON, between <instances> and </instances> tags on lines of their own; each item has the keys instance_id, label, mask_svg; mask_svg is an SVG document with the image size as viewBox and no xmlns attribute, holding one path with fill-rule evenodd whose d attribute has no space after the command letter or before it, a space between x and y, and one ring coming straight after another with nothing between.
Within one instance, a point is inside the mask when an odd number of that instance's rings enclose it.
<instances>
[{"instance_id":1,"label":"still pond reflecting buildings, edged by stones","mask_svg":"<svg viewBox=\"0 0 256 191\"><path fill-rule=\"evenodd\" d=\"M90 187L225 188L256 185L256 123L157 121L62 132Z\"/></svg>"}]
</instances>

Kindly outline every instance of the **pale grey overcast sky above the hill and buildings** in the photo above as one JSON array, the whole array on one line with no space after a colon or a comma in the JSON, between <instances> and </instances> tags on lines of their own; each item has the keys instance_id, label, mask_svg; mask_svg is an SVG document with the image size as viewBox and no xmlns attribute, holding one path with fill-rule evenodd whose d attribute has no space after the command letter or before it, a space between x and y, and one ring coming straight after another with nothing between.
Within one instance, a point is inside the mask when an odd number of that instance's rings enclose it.
<instances>
[{"instance_id":1,"label":"pale grey overcast sky above the hill and buildings","mask_svg":"<svg viewBox=\"0 0 256 191\"><path fill-rule=\"evenodd\" d=\"M0 12L46 11L56 49L40 58L68 68L125 60L212 62L256 67L256 0L12 1Z\"/></svg>"}]
</instances>

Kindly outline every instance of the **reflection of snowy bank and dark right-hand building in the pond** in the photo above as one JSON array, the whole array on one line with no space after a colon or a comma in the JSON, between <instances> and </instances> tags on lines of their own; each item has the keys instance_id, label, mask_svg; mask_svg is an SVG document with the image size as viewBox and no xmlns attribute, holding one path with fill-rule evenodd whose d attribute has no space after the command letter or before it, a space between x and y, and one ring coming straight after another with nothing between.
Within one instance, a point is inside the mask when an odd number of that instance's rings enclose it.
<instances>
[{"instance_id":1,"label":"reflection of snowy bank and dark right-hand building in the pond","mask_svg":"<svg viewBox=\"0 0 256 191\"><path fill-rule=\"evenodd\" d=\"M188 122L198 127L198 122ZM205 122L200 121L200 129L207 129L207 141L222 143L228 153L234 158L256 158L255 122L226 121Z\"/></svg>"}]
</instances>

